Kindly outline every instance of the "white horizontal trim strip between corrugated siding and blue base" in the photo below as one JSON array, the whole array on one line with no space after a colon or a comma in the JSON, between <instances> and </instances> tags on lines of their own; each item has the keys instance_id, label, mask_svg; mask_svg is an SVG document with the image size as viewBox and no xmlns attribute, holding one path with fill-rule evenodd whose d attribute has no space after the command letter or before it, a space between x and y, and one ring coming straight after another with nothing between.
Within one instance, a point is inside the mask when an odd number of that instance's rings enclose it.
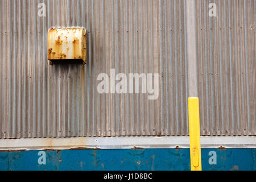
<instances>
[{"instance_id":1,"label":"white horizontal trim strip between corrugated siding and blue base","mask_svg":"<svg viewBox=\"0 0 256 182\"><path fill-rule=\"evenodd\" d=\"M256 148L256 137L201 137L201 148ZM0 151L118 148L189 148L189 137L71 137L0 139Z\"/></svg>"}]
</instances>

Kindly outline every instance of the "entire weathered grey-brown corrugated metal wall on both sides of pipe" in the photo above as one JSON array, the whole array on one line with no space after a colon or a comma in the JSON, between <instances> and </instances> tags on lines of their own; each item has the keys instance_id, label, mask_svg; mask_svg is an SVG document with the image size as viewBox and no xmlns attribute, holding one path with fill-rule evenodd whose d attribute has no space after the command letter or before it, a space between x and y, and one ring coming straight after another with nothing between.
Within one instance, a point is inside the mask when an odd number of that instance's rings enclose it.
<instances>
[{"instance_id":1,"label":"entire weathered grey-brown corrugated metal wall on both sides of pipe","mask_svg":"<svg viewBox=\"0 0 256 182\"><path fill-rule=\"evenodd\" d=\"M209 18L197 1L201 134L255 135L255 0L216 3ZM1 138L188 135L185 1L2 0L0 11ZM87 64L48 65L48 29L72 26L87 29ZM98 94L110 68L160 73L158 100Z\"/></svg>"}]
</instances>

